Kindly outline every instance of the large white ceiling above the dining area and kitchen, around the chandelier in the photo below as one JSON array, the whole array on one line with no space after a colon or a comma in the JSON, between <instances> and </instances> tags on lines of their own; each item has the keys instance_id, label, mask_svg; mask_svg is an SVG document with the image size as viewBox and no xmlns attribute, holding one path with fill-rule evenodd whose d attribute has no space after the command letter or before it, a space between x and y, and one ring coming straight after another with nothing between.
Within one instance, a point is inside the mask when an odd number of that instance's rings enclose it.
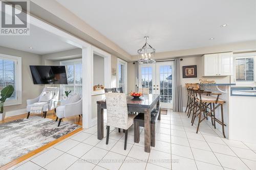
<instances>
[{"instance_id":1,"label":"large white ceiling above the dining area and kitchen, around the chandelier","mask_svg":"<svg viewBox=\"0 0 256 170\"><path fill-rule=\"evenodd\" d=\"M132 55L256 39L255 0L56 1Z\"/></svg>"}]
</instances>

